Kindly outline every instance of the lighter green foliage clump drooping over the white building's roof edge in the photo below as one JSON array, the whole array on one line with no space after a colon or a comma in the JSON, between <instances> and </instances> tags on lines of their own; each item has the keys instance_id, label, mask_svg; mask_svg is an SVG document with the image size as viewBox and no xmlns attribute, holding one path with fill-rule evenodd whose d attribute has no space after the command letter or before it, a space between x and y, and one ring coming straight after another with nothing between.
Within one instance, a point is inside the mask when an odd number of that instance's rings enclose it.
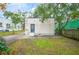
<instances>
[{"instance_id":1,"label":"lighter green foliage clump drooping over the white building's roof edge","mask_svg":"<svg viewBox=\"0 0 79 59\"><path fill-rule=\"evenodd\" d=\"M39 17L41 22L44 22L47 18L49 18L50 12L48 11L48 8L46 4L40 4L34 12L34 17Z\"/></svg>"}]
</instances>

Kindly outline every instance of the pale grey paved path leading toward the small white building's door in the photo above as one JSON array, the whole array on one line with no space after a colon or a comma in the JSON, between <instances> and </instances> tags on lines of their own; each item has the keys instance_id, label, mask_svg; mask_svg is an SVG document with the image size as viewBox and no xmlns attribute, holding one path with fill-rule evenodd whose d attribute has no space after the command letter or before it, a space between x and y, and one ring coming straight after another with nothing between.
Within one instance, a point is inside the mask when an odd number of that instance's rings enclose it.
<instances>
[{"instance_id":1,"label":"pale grey paved path leading toward the small white building's door","mask_svg":"<svg viewBox=\"0 0 79 59\"><path fill-rule=\"evenodd\" d=\"M25 36L24 33L21 33L18 35L3 36L3 38L6 40L7 43L11 43L16 40L25 39L25 38L27 38L27 36Z\"/></svg>"}]
</instances>

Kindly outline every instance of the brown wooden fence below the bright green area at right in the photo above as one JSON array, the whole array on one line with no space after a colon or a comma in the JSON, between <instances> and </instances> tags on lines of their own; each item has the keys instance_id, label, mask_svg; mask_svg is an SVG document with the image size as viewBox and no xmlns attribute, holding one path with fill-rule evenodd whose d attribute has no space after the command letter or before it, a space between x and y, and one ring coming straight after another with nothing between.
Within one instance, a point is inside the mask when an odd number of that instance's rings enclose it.
<instances>
[{"instance_id":1,"label":"brown wooden fence below the bright green area at right","mask_svg":"<svg viewBox=\"0 0 79 59\"><path fill-rule=\"evenodd\" d=\"M66 37L79 40L79 29L77 29L77 30L63 30L62 34Z\"/></svg>"}]
</instances>

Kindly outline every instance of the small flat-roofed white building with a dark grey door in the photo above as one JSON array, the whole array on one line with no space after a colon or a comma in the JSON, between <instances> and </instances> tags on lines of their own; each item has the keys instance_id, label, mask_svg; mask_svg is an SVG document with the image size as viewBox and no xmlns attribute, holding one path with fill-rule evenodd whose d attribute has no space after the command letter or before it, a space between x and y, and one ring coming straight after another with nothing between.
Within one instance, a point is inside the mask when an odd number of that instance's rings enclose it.
<instances>
[{"instance_id":1,"label":"small flat-roofed white building with a dark grey door","mask_svg":"<svg viewBox=\"0 0 79 59\"><path fill-rule=\"evenodd\" d=\"M54 19L50 18L44 23L39 18L27 18L25 20L25 34L34 35L55 35Z\"/></svg>"}]
</instances>

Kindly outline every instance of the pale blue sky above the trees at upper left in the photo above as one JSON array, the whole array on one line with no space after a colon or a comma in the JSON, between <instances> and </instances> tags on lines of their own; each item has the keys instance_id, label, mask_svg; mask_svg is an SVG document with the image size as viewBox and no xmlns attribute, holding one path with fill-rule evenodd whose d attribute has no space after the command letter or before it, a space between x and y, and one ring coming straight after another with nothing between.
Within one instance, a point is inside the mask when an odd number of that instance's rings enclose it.
<instances>
[{"instance_id":1,"label":"pale blue sky above the trees at upper left","mask_svg":"<svg viewBox=\"0 0 79 59\"><path fill-rule=\"evenodd\" d=\"M7 11L17 12L19 11L32 11L37 7L37 3L9 3L6 6ZM3 13L0 12L0 17L3 17Z\"/></svg>"}]
</instances>

